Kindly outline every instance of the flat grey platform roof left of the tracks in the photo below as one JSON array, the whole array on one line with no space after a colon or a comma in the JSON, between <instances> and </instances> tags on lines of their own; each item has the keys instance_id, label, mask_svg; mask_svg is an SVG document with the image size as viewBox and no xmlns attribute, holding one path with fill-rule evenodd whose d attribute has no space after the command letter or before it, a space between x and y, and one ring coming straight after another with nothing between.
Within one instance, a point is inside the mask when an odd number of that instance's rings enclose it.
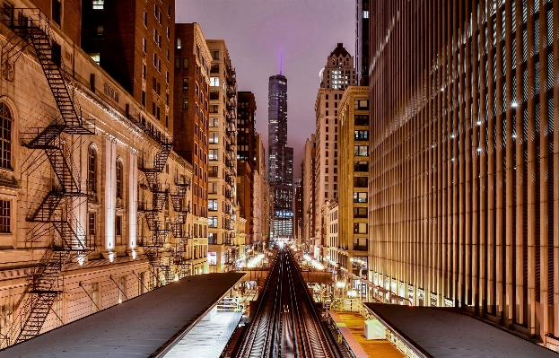
<instances>
[{"instance_id":1,"label":"flat grey platform roof left of the tracks","mask_svg":"<svg viewBox=\"0 0 559 358\"><path fill-rule=\"evenodd\" d=\"M193 275L0 351L4 357L157 357L237 284L243 273Z\"/></svg>"}]
</instances>

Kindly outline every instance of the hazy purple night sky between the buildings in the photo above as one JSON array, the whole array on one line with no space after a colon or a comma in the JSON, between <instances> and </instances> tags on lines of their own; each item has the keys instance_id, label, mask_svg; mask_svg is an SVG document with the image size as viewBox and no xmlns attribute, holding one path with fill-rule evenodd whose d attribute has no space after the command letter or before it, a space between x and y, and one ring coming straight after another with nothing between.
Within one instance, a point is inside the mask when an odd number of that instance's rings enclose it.
<instances>
[{"instance_id":1,"label":"hazy purple night sky between the buildings","mask_svg":"<svg viewBox=\"0 0 559 358\"><path fill-rule=\"evenodd\" d=\"M354 56L354 0L177 0L177 22L198 22L205 39L225 39L239 91L254 92L257 131L267 148L267 85L284 54L287 141L293 178L301 175L303 145L315 130L319 71L338 42ZM267 160L266 160L267 166Z\"/></svg>"}]
</instances>

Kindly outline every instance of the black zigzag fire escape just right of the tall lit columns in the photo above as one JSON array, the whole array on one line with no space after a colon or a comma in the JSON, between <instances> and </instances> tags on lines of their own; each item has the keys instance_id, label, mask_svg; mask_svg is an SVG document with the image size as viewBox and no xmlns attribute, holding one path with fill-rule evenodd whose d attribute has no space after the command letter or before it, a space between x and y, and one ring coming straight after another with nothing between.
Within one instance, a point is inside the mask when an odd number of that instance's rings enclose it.
<instances>
[{"instance_id":1,"label":"black zigzag fire escape just right of the tall lit columns","mask_svg":"<svg viewBox=\"0 0 559 358\"><path fill-rule=\"evenodd\" d=\"M138 169L144 172L147 188L152 193L152 201L151 203L138 202L138 214L144 214L147 227L151 231L151 236L140 238L138 244L144 248L144 254L152 266L153 275L157 277L157 285L169 284L174 278L173 258L167 245L170 225L165 223L162 216L167 211L170 187L168 184L160 182L159 175L165 169L173 140L150 126L141 113L130 113L129 107L127 107L127 118L141 128L146 135L151 136L160 146L153 158L153 165L146 165L148 161L145 159L139 163ZM161 275L164 283L161 281Z\"/></svg>"}]
</instances>

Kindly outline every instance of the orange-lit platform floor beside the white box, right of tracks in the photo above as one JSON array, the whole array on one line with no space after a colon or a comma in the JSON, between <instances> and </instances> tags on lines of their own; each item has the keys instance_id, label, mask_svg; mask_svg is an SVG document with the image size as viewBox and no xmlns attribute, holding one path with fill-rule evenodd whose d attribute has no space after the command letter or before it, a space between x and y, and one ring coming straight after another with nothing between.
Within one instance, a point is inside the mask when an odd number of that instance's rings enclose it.
<instances>
[{"instance_id":1,"label":"orange-lit platform floor beside the white box, right of tracks","mask_svg":"<svg viewBox=\"0 0 559 358\"><path fill-rule=\"evenodd\" d=\"M389 340L366 339L365 318L358 312L328 311L356 358L405 358Z\"/></svg>"}]
</instances>

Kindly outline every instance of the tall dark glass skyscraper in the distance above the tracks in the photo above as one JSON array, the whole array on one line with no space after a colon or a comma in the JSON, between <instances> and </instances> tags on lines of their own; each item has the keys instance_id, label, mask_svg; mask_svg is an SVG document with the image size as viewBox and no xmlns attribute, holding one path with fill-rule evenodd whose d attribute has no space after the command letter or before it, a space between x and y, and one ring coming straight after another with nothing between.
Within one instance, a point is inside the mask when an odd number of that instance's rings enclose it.
<instances>
[{"instance_id":1,"label":"tall dark glass skyscraper in the distance above the tracks","mask_svg":"<svg viewBox=\"0 0 559 358\"><path fill-rule=\"evenodd\" d=\"M287 78L268 85L268 181L274 188L274 237L293 237L293 148L287 146Z\"/></svg>"}]
</instances>

